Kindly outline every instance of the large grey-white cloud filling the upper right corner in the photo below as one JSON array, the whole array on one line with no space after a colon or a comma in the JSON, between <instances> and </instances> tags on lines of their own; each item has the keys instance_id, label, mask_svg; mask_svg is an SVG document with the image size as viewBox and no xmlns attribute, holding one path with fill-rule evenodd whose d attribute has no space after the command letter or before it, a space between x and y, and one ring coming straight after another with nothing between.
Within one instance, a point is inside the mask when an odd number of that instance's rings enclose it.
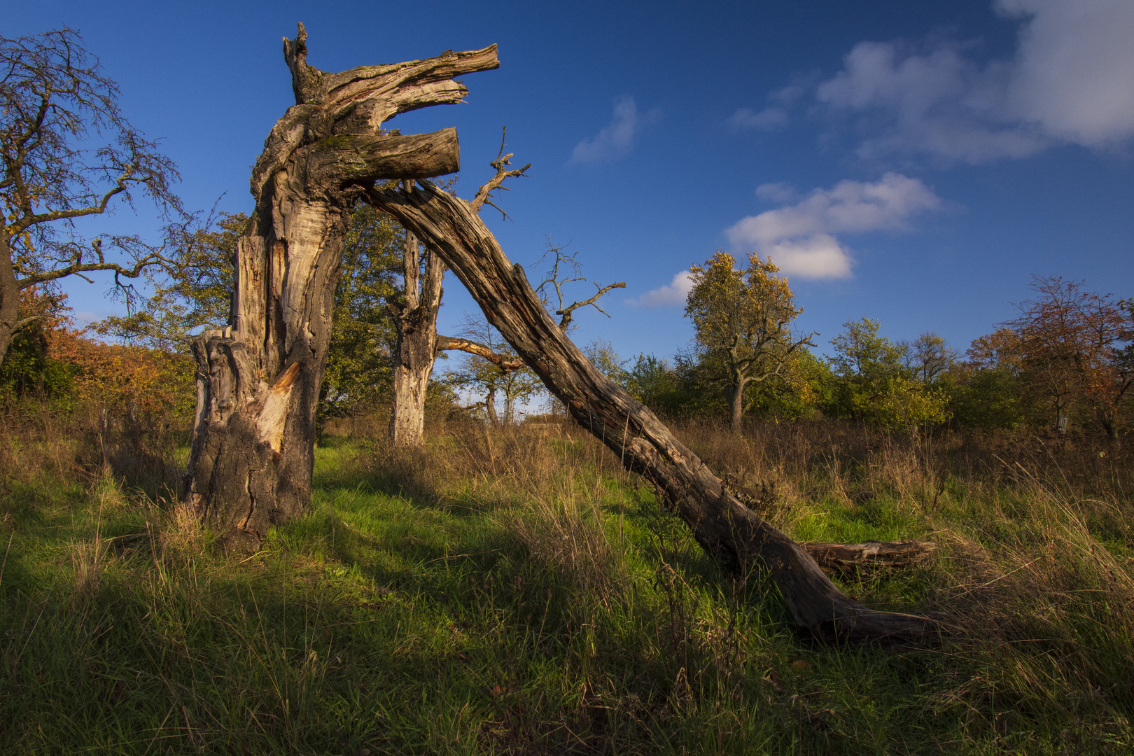
<instances>
[{"instance_id":1,"label":"large grey-white cloud filling the upper right corner","mask_svg":"<svg viewBox=\"0 0 1134 756\"><path fill-rule=\"evenodd\" d=\"M861 117L860 155L929 154L980 163L1051 144L1109 147L1134 137L1134 2L996 0L1019 19L1010 59L979 65L964 45L915 52L861 42L815 88Z\"/></svg>"}]
</instances>

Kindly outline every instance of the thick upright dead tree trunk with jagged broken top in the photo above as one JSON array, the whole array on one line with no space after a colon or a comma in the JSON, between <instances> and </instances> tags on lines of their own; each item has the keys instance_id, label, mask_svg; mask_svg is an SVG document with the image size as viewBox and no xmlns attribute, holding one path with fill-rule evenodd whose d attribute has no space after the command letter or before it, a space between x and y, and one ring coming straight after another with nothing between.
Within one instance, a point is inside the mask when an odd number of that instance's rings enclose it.
<instances>
[{"instance_id":1,"label":"thick upright dead tree trunk with jagged broken top","mask_svg":"<svg viewBox=\"0 0 1134 756\"><path fill-rule=\"evenodd\" d=\"M252 171L256 207L240 238L229 326L196 338L197 414L185 503L234 550L311 501L315 405L340 250L355 201L375 180L451 173L456 129L401 136L397 113L459 102L455 76L499 66L496 45L324 73L306 32L284 41L296 104Z\"/></svg>"}]
</instances>

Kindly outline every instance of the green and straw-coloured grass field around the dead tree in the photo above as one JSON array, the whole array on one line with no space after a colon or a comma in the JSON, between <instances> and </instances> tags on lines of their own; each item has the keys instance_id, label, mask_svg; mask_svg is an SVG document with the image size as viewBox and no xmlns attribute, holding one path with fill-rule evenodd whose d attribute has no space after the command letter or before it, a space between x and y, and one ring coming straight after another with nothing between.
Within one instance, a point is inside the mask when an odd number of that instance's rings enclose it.
<instances>
[{"instance_id":1,"label":"green and straw-coloured grass field around the dead tree","mask_svg":"<svg viewBox=\"0 0 1134 756\"><path fill-rule=\"evenodd\" d=\"M0 450L0 750L1134 750L1129 456L832 427L679 435L798 540L936 542L843 583L946 612L934 647L813 644L577 430L330 436L310 513L226 558L169 459L84 467L28 421Z\"/></svg>"}]
</instances>

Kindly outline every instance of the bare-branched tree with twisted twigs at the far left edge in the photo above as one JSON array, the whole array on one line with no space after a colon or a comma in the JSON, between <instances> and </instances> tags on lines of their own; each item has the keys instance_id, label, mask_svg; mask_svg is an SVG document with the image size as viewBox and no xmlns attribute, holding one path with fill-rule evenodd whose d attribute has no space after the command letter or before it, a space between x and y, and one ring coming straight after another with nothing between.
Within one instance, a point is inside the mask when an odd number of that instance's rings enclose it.
<instances>
[{"instance_id":1,"label":"bare-branched tree with twisted twigs at the far left edge","mask_svg":"<svg viewBox=\"0 0 1134 756\"><path fill-rule=\"evenodd\" d=\"M102 142L107 138L105 142ZM0 360L12 335L42 315L19 292L110 271L116 283L171 261L137 237L84 239L75 221L135 195L179 213L172 161L121 114L118 85L79 35L62 28L0 37ZM130 296L128 288L120 288Z\"/></svg>"}]
</instances>

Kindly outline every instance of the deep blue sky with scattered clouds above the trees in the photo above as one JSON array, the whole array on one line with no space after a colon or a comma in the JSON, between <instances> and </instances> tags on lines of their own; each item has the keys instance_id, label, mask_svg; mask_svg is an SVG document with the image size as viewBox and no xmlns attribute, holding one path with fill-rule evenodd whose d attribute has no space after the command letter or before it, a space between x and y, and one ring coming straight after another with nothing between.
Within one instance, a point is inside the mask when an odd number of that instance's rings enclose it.
<instances>
[{"instance_id":1,"label":"deep blue sky with scattered clouds above the trees","mask_svg":"<svg viewBox=\"0 0 1134 756\"><path fill-rule=\"evenodd\" d=\"M528 267L550 237L600 283L579 342L671 355L682 275L719 247L771 255L820 351L845 321L966 348L1031 275L1134 296L1134 2L11 3L0 34L78 29L160 137L192 207L248 210L249 167L293 104L280 40L302 20L324 70L499 44L467 102L401 116L456 126L458 194L500 129L530 178L485 210ZM151 233L120 209L100 228ZM95 228L92 223L90 228ZM84 317L116 305L71 283ZM592 289L593 291L593 289ZM590 296L578 289L578 298ZM440 330L474 305L447 278Z\"/></svg>"}]
</instances>

